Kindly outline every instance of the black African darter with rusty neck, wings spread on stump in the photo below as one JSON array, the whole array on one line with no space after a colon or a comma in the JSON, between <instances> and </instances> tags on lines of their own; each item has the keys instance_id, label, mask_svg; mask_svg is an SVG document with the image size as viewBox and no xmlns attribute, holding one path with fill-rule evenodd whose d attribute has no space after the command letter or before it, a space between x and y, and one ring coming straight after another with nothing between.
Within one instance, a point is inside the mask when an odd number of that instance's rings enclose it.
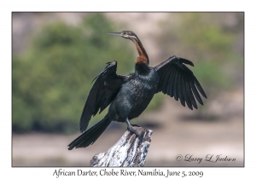
<instances>
[{"instance_id":1,"label":"black African darter with rusty neck, wings spread on stump","mask_svg":"<svg viewBox=\"0 0 256 179\"><path fill-rule=\"evenodd\" d=\"M135 71L129 75L119 75L116 73L117 61L107 63L93 80L95 83L84 104L79 123L82 134L68 145L68 150L92 145L112 121L125 122L127 129L139 136L130 120L143 113L156 93L170 95L191 110L198 108L196 101L203 105L201 95L207 98L194 73L186 66L194 66L191 61L173 55L158 66L151 67L148 66L149 58L143 43L134 32L107 33L130 39L134 43L138 54ZM102 113L106 107L106 116L86 130L90 118L98 112Z\"/></svg>"}]
</instances>

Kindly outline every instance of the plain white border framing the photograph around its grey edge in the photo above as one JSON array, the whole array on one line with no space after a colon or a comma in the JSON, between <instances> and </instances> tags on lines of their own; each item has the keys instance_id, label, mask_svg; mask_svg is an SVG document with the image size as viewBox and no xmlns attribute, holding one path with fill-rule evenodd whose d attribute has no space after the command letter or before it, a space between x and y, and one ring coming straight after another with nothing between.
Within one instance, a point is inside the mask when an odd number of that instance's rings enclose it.
<instances>
[{"instance_id":1,"label":"plain white border framing the photograph around its grey edge","mask_svg":"<svg viewBox=\"0 0 256 179\"><path fill-rule=\"evenodd\" d=\"M192 3L193 2L193 3ZM171 168L170 170L203 170L202 178L241 178L254 176L255 162L255 18L253 1L5 1L1 4L1 178L55 178L58 168L11 167L11 12L12 11L245 11L245 168ZM254 72L254 73L253 73ZM152 168L145 168L151 170ZM65 168L77 170L77 168ZM85 168L82 168L85 170ZM93 169L101 170L101 169ZM136 169L127 169L136 170ZM166 170L163 168L163 170ZM88 176L76 176L88 177ZM147 176L153 178L154 176ZM179 176L180 177L180 176ZM105 177L104 177L105 178ZM108 176L113 178L113 176ZM117 177L116 177L117 178ZM155 178L155 177L154 177ZM251 177L252 178L252 177Z\"/></svg>"}]
</instances>

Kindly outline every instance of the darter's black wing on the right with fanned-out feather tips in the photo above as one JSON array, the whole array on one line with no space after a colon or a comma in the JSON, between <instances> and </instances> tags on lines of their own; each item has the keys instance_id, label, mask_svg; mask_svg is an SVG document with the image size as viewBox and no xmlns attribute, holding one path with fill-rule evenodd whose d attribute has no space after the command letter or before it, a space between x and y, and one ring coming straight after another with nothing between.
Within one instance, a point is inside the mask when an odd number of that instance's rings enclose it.
<instances>
[{"instance_id":1,"label":"darter's black wing on the right with fanned-out feather tips","mask_svg":"<svg viewBox=\"0 0 256 179\"><path fill-rule=\"evenodd\" d=\"M197 109L195 99L203 105L199 92L205 98L207 98L207 95L193 72L184 64L194 66L191 61L172 56L154 67L160 77L157 92L162 91L171 97L174 96L176 101L179 99L183 107L185 107L186 102L187 106L193 110L193 107Z\"/></svg>"}]
</instances>

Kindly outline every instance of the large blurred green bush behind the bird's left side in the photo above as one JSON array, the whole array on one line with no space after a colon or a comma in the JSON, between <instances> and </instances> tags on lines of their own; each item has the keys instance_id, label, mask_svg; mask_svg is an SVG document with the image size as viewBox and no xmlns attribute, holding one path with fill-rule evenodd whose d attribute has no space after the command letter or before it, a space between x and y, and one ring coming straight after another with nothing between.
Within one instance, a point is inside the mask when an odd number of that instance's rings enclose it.
<instances>
[{"instance_id":1,"label":"large blurred green bush behind the bird's left side","mask_svg":"<svg viewBox=\"0 0 256 179\"><path fill-rule=\"evenodd\" d=\"M91 81L108 61L118 61L119 74L134 72L136 50L116 32L103 14L87 14L78 26L55 21L43 26L26 53L13 57L13 131L71 133L79 118ZM160 98L149 109L160 106ZM102 119L108 109L92 118Z\"/></svg>"}]
</instances>

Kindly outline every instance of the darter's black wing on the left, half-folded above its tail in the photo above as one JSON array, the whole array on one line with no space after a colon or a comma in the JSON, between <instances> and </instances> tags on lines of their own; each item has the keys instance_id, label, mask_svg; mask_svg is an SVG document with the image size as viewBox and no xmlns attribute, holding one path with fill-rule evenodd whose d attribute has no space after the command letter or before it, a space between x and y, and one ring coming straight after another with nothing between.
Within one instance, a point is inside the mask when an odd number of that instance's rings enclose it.
<instances>
[{"instance_id":1,"label":"darter's black wing on the left, half-folded above its tail","mask_svg":"<svg viewBox=\"0 0 256 179\"><path fill-rule=\"evenodd\" d=\"M99 113L102 113L108 107L119 92L121 85L124 84L125 76L117 75L116 68L117 61L108 62L105 69L94 79L96 82L90 90L80 118L81 132L87 129L92 115L96 115L99 110Z\"/></svg>"}]
</instances>

